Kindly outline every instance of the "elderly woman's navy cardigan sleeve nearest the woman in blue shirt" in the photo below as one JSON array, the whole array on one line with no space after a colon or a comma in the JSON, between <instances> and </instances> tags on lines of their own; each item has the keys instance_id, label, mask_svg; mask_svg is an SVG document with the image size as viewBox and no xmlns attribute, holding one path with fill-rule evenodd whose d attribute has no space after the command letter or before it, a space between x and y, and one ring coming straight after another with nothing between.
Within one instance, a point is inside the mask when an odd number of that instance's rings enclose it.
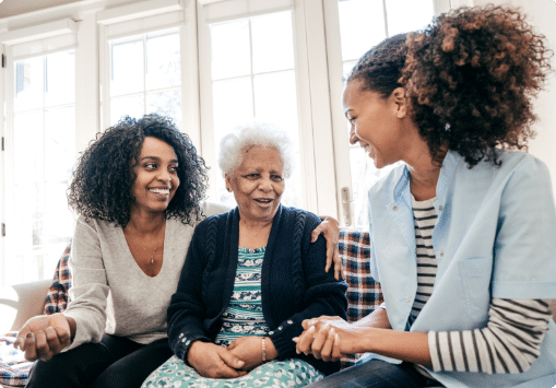
<instances>
[{"instance_id":1,"label":"elderly woman's navy cardigan sleeve nearest the woman in blue shirt","mask_svg":"<svg viewBox=\"0 0 556 388\"><path fill-rule=\"evenodd\" d=\"M319 222L316 215L307 213L305 227L295 233L294 239L300 238L300 257L298 258L298 271L294 270L292 275L295 283L303 284L299 295L301 309L269 332L281 360L298 356L295 352L295 342L292 339L303 332L301 322L304 319L322 315L346 319L345 292L347 285L345 282L336 281L333 271L324 272L327 258L324 237L320 235L317 242L310 243L310 234Z\"/></svg>"}]
</instances>

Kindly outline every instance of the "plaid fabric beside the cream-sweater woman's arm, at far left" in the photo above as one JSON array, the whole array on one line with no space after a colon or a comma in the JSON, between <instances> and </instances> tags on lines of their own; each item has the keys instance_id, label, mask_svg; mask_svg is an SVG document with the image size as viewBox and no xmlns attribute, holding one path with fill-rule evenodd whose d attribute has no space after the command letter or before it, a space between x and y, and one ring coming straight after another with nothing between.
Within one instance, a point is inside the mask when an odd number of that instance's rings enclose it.
<instances>
[{"instance_id":1,"label":"plaid fabric beside the cream-sweater woman's arm, at far left","mask_svg":"<svg viewBox=\"0 0 556 388\"><path fill-rule=\"evenodd\" d=\"M71 239L58 261L50 290L46 294L45 314L63 313L68 307L68 290L71 287L71 274L68 261L70 260Z\"/></svg>"}]
</instances>

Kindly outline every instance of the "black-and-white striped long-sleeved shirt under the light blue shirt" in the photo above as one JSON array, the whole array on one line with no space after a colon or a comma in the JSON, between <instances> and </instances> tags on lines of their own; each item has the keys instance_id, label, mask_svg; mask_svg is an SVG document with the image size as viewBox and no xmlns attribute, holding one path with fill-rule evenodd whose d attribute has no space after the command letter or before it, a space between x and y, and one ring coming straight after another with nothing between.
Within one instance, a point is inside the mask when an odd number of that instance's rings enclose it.
<instances>
[{"instance_id":1,"label":"black-and-white striped long-sleeved shirt under the light blue shirt","mask_svg":"<svg viewBox=\"0 0 556 388\"><path fill-rule=\"evenodd\" d=\"M417 256L417 294L411 321L433 294L437 261L433 248L433 230L438 220L436 198L413 199ZM428 345L435 372L522 373L530 368L541 351L552 314L549 301L502 299L494 297L484 328L428 333Z\"/></svg>"}]
</instances>

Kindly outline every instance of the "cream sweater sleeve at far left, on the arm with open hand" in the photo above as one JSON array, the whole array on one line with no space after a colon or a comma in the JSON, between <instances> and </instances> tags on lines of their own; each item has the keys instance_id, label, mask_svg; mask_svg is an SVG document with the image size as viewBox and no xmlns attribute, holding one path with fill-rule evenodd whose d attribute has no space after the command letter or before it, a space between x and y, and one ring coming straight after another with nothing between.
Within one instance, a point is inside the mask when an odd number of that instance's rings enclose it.
<instances>
[{"instance_id":1,"label":"cream sweater sleeve at far left, on the arm with open hand","mask_svg":"<svg viewBox=\"0 0 556 388\"><path fill-rule=\"evenodd\" d=\"M80 216L69 260L72 273L70 303L63 313L75 320L75 338L64 351L85 342L99 342L106 328L108 283L95 222Z\"/></svg>"}]
</instances>

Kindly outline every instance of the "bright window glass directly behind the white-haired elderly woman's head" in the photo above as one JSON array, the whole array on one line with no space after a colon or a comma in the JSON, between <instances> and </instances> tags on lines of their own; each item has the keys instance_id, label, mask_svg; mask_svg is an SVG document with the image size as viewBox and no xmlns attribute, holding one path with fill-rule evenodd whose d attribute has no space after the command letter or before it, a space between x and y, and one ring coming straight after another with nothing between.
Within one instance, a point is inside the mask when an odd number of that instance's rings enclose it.
<instances>
[{"instance_id":1,"label":"bright window glass directly behind the white-haired elderly woman's head","mask_svg":"<svg viewBox=\"0 0 556 388\"><path fill-rule=\"evenodd\" d=\"M256 118L277 126L292 140L296 160L282 201L301 207L292 11L215 23L210 30L215 155L236 125ZM212 184L216 201L235 205L220 174Z\"/></svg>"}]
</instances>

